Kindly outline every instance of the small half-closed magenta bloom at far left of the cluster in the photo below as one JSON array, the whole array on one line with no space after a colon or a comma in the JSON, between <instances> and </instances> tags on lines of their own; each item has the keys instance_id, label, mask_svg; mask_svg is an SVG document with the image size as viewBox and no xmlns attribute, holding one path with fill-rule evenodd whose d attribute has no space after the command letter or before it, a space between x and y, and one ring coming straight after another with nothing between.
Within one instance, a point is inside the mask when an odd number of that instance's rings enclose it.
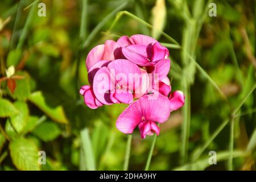
<instances>
[{"instance_id":1,"label":"small half-closed magenta bloom at far left of the cluster","mask_svg":"<svg viewBox=\"0 0 256 182\"><path fill-rule=\"evenodd\" d=\"M92 86L84 85L80 89L80 94L84 96L84 103L90 107L90 109L97 109L98 107L102 106L103 104L97 100L93 93Z\"/></svg>"}]
</instances>

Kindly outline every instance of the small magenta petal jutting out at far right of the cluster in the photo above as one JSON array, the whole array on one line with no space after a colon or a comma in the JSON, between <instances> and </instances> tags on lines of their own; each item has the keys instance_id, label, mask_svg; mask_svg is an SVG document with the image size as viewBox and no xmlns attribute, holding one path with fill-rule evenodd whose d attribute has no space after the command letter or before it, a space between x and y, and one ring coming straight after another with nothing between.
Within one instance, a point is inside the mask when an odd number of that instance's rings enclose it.
<instances>
[{"instance_id":1,"label":"small magenta petal jutting out at far right of the cluster","mask_svg":"<svg viewBox=\"0 0 256 182\"><path fill-rule=\"evenodd\" d=\"M180 107L184 105L185 96L183 92L178 90L171 93L169 100L171 105L171 111L174 111L174 110L180 109Z\"/></svg>"}]
</instances>

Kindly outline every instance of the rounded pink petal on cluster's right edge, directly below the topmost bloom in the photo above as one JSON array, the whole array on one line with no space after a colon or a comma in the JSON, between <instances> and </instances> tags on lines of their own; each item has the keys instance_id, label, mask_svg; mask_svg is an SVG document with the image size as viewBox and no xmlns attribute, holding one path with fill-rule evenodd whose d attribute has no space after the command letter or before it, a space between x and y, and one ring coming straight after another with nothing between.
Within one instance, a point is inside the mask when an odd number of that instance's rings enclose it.
<instances>
[{"instance_id":1,"label":"rounded pink petal on cluster's right edge, directly below the topmost bloom","mask_svg":"<svg viewBox=\"0 0 256 182\"><path fill-rule=\"evenodd\" d=\"M159 80L162 80L165 78L169 71L170 71L171 63L169 59L163 59L158 61L158 63L155 64L155 70L154 73L158 74Z\"/></svg>"}]
</instances>

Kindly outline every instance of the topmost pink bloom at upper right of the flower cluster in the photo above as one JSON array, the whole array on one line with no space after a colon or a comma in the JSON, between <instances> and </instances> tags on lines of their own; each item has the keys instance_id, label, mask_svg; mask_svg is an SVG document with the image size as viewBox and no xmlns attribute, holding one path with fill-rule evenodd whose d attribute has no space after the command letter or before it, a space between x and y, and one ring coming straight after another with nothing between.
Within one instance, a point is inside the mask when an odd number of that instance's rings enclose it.
<instances>
[{"instance_id":1,"label":"topmost pink bloom at upper right of the flower cluster","mask_svg":"<svg viewBox=\"0 0 256 182\"><path fill-rule=\"evenodd\" d=\"M158 73L159 80L170 71L169 51L155 39L146 35L122 36L117 40L126 59L145 67L148 73Z\"/></svg>"}]
</instances>

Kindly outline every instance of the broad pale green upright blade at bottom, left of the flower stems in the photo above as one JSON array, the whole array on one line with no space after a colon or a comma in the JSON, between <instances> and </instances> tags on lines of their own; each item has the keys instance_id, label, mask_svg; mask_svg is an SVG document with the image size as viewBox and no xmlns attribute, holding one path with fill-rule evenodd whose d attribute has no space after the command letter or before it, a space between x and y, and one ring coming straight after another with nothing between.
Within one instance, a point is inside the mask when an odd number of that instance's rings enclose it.
<instances>
[{"instance_id":1,"label":"broad pale green upright blade at bottom, left of the flower stems","mask_svg":"<svg viewBox=\"0 0 256 182\"><path fill-rule=\"evenodd\" d=\"M89 136L89 130L85 128L81 130L81 147L82 147L82 155L84 155L86 168L89 171L96 170L95 158L93 155L93 148Z\"/></svg>"}]
</instances>

